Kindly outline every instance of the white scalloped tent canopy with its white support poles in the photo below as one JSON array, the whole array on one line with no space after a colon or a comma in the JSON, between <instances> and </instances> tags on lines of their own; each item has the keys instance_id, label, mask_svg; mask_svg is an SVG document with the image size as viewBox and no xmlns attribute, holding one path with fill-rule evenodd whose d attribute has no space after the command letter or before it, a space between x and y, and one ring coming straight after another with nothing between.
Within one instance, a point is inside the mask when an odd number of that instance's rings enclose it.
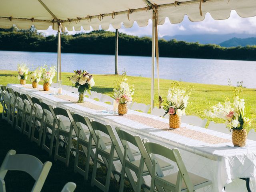
<instances>
[{"instance_id":1,"label":"white scalloped tent canopy with its white support poles","mask_svg":"<svg viewBox=\"0 0 256 192\"><path fill-rule=\"evenodd\" d=\"M34 25L38 30L52 26L58 30L57 80L60 75L60 30L108 29L110 24L118 29L122 23L132 27L152 25L152 82L151 108L154 107L155 47L158 53L156 25L164 24L168 17L171 23L182 22L185 15L190 21L202 21L210 13L215 20L227 19L231 10L240 17L256 16L256 0L1 0L0 28L20 29ZM157 58L158 61L158 58ZM159 84L159 82L158 82ZM158 86L159 90L159 86ZM160 92L160 91L159 91Z\"/></svg>"}]
</instances>

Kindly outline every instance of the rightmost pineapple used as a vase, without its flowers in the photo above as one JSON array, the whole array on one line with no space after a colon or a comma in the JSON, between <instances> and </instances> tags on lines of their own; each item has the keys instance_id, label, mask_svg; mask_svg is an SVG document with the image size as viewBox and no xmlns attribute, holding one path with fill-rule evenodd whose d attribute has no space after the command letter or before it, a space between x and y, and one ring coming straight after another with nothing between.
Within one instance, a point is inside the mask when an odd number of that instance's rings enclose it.
<instances>
[{"instance_id":1,"label":"rightmost pineapple used as a vase, without its flowers","mask_svg":"<svg viewBox=\"0 0 256 192\"><path fill-rule=\"evenodd\" d=\"M245 129L233 129L232 142L236 147L244 147L246 145L247 132Z\"/></svg>"}]
</instances>

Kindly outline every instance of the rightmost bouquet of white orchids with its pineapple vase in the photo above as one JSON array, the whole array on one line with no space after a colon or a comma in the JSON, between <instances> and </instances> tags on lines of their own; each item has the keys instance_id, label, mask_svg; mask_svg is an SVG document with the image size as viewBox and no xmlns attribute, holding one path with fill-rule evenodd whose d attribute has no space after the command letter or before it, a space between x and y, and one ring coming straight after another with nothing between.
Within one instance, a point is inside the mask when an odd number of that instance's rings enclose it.
<instances>
[{"instance_id":1,"label":"rightmost bouquet of white orchids with its pineapple vase","mask_svg":"<svg viewBox=\"0 0 256 192\"><path fill-rule=\"evenodd\" d=\"M231 84L230 84L231 85ZM234 146L246 145L247 128L251 125L248 110L245 108L244 99L241 98L242 82L238 88L234 87L232 99L225 97L224 104L218 103L212 109L206 111L206 115L212 118L226 120L226 127L232 131L232 142ZM248 129L249 130L249 129Z\"/></svg>"}]
</instances>

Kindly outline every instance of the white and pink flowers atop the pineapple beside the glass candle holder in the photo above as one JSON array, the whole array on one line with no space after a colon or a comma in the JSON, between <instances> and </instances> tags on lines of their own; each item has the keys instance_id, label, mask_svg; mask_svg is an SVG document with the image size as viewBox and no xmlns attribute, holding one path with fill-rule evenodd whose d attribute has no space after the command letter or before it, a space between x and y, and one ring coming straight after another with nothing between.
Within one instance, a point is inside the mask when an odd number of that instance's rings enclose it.
<instances>
[{"instance_id":1,"label":"white and pink flowers atop the pineapple beside the glass candle holder","mask_svg":"<svg viewBox=\"0 0 256 192\"><path fill-rule=\"evenodd\" d=\"M122 78L115 82L113 89L114 93L112 95L112 98L114 98L119 104L126 104L127 102L132 101L132 96L134 95L134 85L130 87L128 83L126 71L124 71Z\"/></svg>"}]
</instances>

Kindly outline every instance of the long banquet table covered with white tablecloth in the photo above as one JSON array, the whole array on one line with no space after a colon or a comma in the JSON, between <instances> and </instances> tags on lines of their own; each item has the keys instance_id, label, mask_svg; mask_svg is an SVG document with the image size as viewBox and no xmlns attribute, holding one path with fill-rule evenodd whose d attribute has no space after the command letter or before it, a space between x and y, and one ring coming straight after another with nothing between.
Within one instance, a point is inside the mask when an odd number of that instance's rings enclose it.
<instances>
[{"instance_id":1,"label":"long banquet table covered with white tablecloth","mask_svg":"<svg viewBox=\"0 0 256 192\"><path fill-rule=\"evenodd\" d=\"M232 180L238 180L238 178L251 178L251 189L255 189L255 141L247 140L246 147L238 148L232 145L231 136L228 134L182 123L181 127L185 127L188 132L193 133L191 136L182 135L177 132L178 130L176 132L168 130L168 126L159 128L160 124L167 124L168 119L133 110L128 110L128 116L108 114L102 112L102 109L112 108L112 106L90 98L85 98L85 102L94 107L82 106L71 102L74 98L78 99L78 95L65 90L63 90L62 96L58 97L49 91L42 91L42 86L32 89L32 86L28 84L8 84L8 87L18 92L41 98L47 104L68 108L104 124L110 124L113 128L116 126L121 127L134 135L137 134L142 138L148 138L152 142L157 142L170 148L178 148L189 172L212 180L212 185L198 191L220 192L224 191L224 186L226 186L226 190L228 188L232 189L229 191L246 191L245 182L243 183L242 180L239 181L242 185L232 182ZM54 88L51 88L51 90L54 90ZM152 121L151 124L143 122L148 120ZM153 124L156 124L156 126ZM232 184L234 185L232 186ZM252 191L254 191L253 189Z\"/></svg>"}]
</instances>

